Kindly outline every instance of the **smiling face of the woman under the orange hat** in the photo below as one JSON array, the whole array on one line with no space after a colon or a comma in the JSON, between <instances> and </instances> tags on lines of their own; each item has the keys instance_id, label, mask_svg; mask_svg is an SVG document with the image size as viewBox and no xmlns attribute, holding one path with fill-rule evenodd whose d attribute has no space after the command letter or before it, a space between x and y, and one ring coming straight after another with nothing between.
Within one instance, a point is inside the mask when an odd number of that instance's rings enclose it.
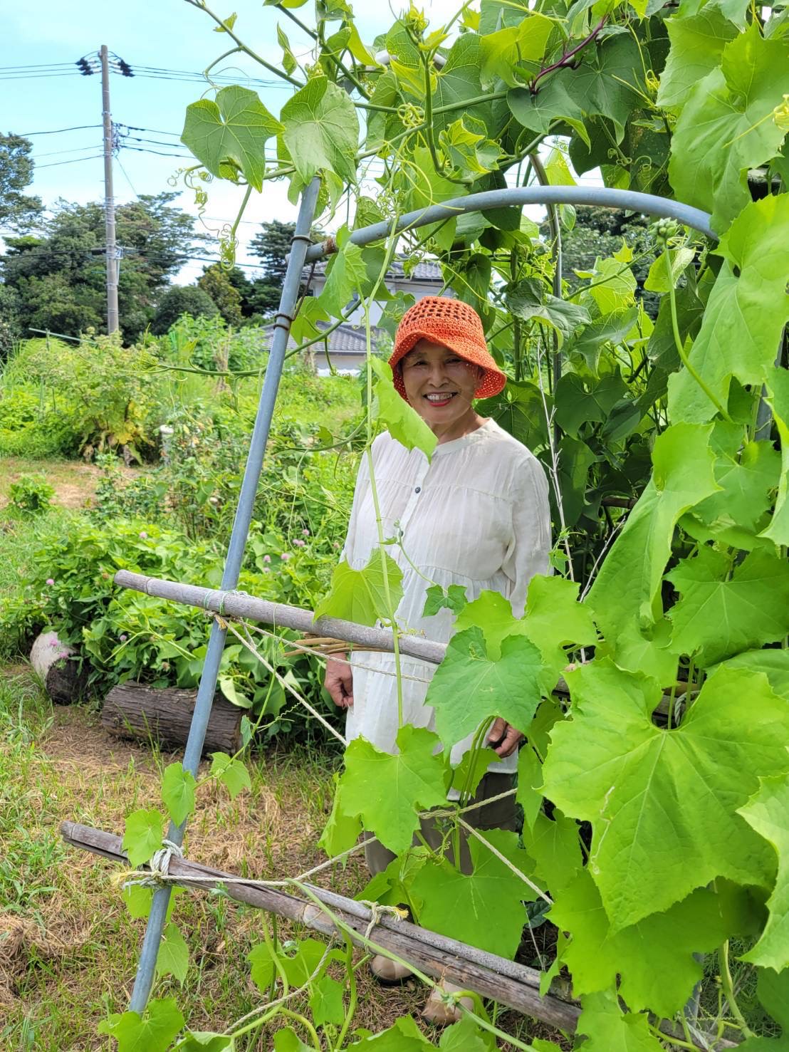
<instances>
[{"instance_id":1,"label":"smiling face of the woman under the orange hat","mask_svg":"<svg viewBox=\"0 0 789 1052\"><path fill-rule=\"evenodd\" d=\"M460 438L480 426L472 405L483 370L429 340L420 340L401 362L408 402L443 439Z\"/></svg>"}]
</instances>

